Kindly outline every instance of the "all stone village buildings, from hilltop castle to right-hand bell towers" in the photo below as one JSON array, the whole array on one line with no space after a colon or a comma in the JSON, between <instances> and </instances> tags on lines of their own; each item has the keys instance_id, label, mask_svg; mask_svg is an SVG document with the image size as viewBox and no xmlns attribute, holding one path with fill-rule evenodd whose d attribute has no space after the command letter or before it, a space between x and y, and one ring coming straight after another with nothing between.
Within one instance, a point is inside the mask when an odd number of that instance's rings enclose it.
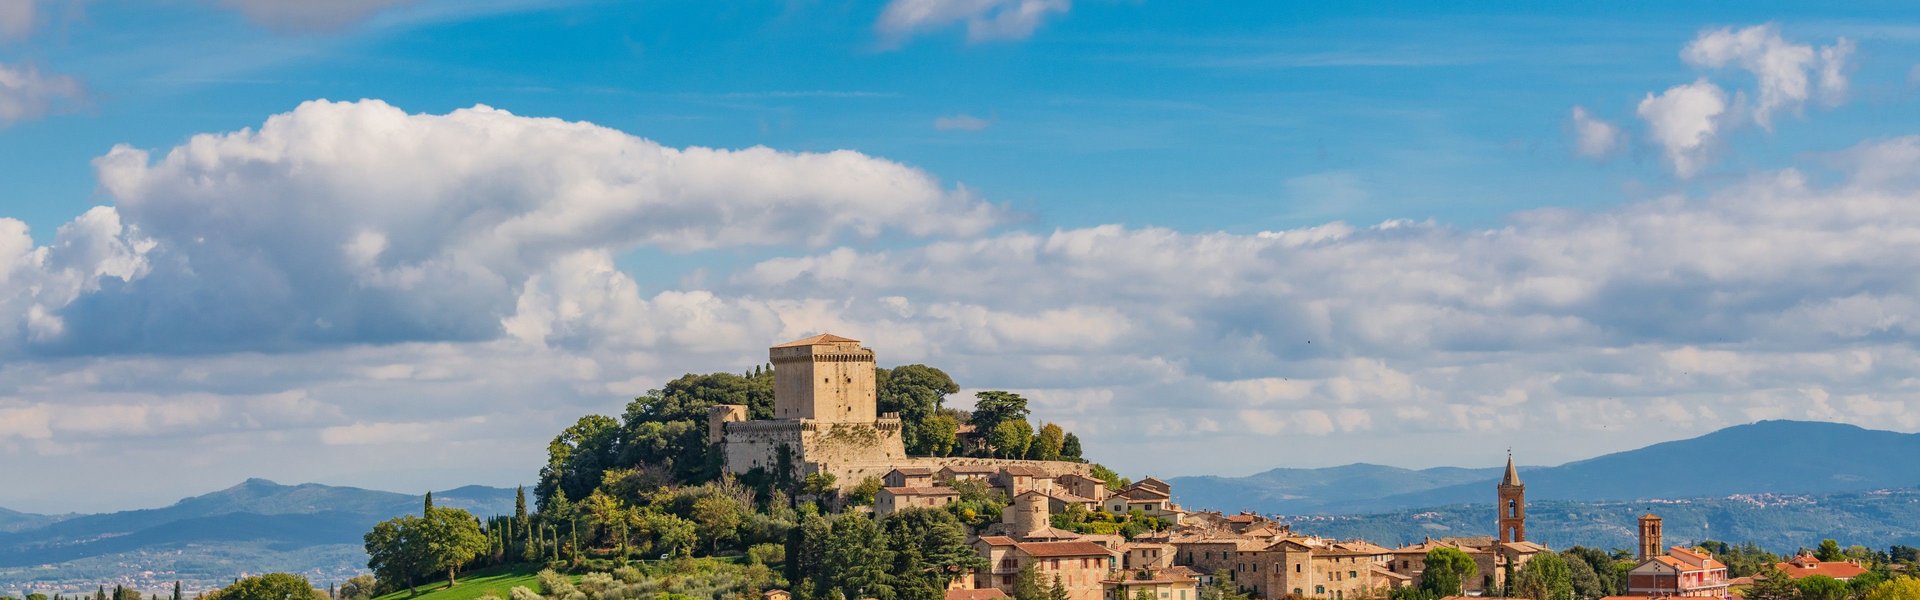
<instances>
[{"instance_id":1,"label":"all stone village buildings, from hilltop castle to right-hand bell towers","mask_svg":"<svg viewBox=\"0 0 1920 600\"><path fill-rule=\"evenodd\" d=\"M956 577L950 600L1004 598L1021 569L1060 581L1073 600L1129 600L1142 590L1160 600L1196 600L1217 577L1256 598L1382 598L1419 583L1430 550L1453 548L1473 558L1469 596L1494 596L1548 546L1526 540L1526 485L1513 456L1496 485L1496 535L1427 538L1388 548L1367 540L1332 540L1294 533L1256 513L1187 512L1165 481L1146 477L1123 488L1094 479L1077 462L912 458L900 442L899 415L877 413L874 350L858 340L818 335L770 350L776 417L747 419L745 406L716 406L708 419L726 467L745 473L791 460L801 475L831 473L841 485L879 477L876 517L908 508L945 508L960 498L960 481L979 481L1012 498L1000 521L972 533L989 565ZM1167 523L1123 538L1054 527L1068 510L1139 513ZM1728 598L1726 565L1713 556L1661 546L1661 519L1640 519L1640 565L1626 598Z\"/></svg>"}]
</instances>

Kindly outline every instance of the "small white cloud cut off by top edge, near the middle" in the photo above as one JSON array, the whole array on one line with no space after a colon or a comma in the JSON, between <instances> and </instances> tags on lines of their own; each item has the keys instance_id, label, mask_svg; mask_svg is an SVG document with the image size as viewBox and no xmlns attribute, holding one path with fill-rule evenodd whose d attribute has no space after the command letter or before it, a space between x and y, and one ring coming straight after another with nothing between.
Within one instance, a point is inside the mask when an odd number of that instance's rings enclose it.
<instances>
[{"instance_id":1,"label":"small white cloud cut off by top edge, near the middle","mask_svg":"<svg viewBox=\"0 0 1920 600\"><path fill-rule=\"evenodd\" d=\"M1020 40L1071 8L1071 0L893 0L874 29L889 44L956 23L966 23L970 42Z\"/></svg>"}]
</instances>

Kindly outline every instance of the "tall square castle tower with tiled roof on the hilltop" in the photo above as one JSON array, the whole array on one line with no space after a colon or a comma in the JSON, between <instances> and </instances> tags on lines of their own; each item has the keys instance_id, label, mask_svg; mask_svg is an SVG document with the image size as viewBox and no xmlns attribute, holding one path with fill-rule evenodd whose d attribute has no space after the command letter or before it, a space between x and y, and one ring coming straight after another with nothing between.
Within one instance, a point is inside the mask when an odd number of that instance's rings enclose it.
<instances>
[{"instance_id":1,"label":"tall square castle tower with tiled roof on the hilltop","mask_svg":"<svg viewBox=\"0 0 1920 600\"><path fill-rule=\"evenodd\" d=\"M874 423L874 350L831 333L791 340L766 354L774 362L774 419Z\"/></svg>"}]
</instances>

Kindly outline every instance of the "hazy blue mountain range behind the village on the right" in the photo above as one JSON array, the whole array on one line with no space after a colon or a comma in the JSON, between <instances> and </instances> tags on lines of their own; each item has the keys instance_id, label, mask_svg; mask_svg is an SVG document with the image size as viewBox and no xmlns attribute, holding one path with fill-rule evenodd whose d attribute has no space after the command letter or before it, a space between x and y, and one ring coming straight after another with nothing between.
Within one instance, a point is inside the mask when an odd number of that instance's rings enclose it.
<instances>
[{"instance_id":1,"label":"hazy blue mountain range behind the village on the right","mask_svg":"<svg viewBox=\"0 0 1920 600\"><path fill-rule=\"evenodd\" d=\"M1171 477L1187 508L1386 513L1490 504L1501 469L1344 465L1248 477ZM1920 435L1841 423L1761 421L1557 467L1523 467L1526 500L1843 494L1920 487Z\"/></svg>"}]
</instances>

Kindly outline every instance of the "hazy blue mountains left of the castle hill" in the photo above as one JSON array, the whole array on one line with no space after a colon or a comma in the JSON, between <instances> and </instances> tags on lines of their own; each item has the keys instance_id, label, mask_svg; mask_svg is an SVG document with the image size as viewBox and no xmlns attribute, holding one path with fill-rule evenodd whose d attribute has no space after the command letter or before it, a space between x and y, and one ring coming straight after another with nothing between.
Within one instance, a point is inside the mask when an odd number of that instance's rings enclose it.
<instances>
[{"instance_id":1,"label":"hazy blue mountains left of the castle hill","mask_svg":"<svg viewBox=\"0 0 1920 600\"><path fill-rule=\"evenodd\" d=\"M434 506L501 515L513 512L513 492L463 487L434 492ZM167 508L65 517L0 512L0 594L100 583L161 588L177 579L219 585L269 569L342 581L365 571L361 537L374 523L420 506L413 494L248 479Z\"/></svg>"}]
</instances>

